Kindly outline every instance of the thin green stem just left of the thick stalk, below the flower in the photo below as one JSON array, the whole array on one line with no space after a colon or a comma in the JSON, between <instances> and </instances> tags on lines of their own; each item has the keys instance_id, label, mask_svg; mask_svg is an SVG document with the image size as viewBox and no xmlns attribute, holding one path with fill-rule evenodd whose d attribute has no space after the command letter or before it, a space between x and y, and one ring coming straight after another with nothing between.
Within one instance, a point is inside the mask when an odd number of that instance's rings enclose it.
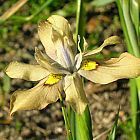
<instances>
[{"instance_id":1,"label":"thin green stem just left of the thick stalk, below the flower","mask_svg":"<svg viewBox=\"0 0 140 140\"><path fill-rule=\"evenodd\" d=\"M64 101L63 101L61 93L59 93L59 99L60 99L60 104L61 104L61 108L62 108L62 114L63 114L64 121L65 121L65 127L66 127L66 131L67 131L67 139L68 140L73 140L69 118L68 118L68 115L67 115L67 112L66 112L66 108L65 108Z\"/></svg>"}]
</instances>

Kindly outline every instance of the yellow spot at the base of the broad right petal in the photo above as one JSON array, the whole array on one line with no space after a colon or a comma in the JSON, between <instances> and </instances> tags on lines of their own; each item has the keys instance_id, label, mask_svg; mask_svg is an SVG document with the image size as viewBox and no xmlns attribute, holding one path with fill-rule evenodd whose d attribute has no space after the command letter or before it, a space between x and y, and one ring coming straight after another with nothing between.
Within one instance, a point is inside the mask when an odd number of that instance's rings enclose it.
<instances>
[{"instance_id":1,"label":"yellow spot at the base of the broad right petal","mask_svg":"<svg viewBox=\"0 0 140 140\"><path fill-rule=\"evenodd\" d=\"M84 60L81 65L82 70L94 70L98 64L95 61Z\"/></svg>"}]
</instances>

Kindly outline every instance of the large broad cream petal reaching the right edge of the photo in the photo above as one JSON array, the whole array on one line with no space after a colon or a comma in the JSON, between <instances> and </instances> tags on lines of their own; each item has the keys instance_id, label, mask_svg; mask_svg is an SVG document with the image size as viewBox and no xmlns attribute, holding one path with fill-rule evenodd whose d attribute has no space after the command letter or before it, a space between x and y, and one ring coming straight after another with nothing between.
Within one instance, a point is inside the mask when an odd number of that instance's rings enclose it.
<instances>
[{"instance_id":1,"label":"large broad cream petal reaching the right edge of the photo","mask_svg":"<svg viewBox=\"0 0 140 140\"><path fill-rule=\"evenodd\" d=\"M118 79L139 76L140 59L129 53L123 53L119 58L112 58L99 64L95 70L79 70L78 73L92 82L108 84Z\"/></svg>"}]
</instances>

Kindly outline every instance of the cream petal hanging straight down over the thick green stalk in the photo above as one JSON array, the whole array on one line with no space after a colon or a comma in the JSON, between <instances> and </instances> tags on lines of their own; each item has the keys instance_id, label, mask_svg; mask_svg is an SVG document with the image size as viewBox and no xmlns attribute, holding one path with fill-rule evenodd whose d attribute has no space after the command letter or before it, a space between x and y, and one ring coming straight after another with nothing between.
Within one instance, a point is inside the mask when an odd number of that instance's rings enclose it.
<instances>
[{"instance_id":1,"label":"cream petal hanging straight down over the thick green stalk","mask_svg":"<svg viewBox=\"0 0 140 140\"><path fill-rule=\"evenodd\" d=\"M81 77L73 74L65 77L66 101L79 114L82 114L87 106L87 98L83 89Z\"/></svg>"}]
</instances>

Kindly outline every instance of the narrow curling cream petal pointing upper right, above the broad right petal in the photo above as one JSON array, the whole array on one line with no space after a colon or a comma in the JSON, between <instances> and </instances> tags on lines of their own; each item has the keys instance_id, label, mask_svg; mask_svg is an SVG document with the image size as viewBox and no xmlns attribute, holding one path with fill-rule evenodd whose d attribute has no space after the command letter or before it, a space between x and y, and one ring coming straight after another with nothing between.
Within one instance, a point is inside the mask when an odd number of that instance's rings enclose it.
<instances>
[{"instance_id":1,"label":"narrow curling cream petal pointing upper right, above the broad right petal","mask_svg":"<svg viewBox=\"0 0 140 140\"><path fill-rule=\"evenodd\" d=\"M91 56L91 55L94 55L94 54L97 54L97 53L101 52L103 50L103 48L106 47L106 46L118 45L118 44L121 44L121 43L122 43L122 41L118 36L111 36L111 37L105 39L103 44L100 47L98 47L97 49L94 49L92 51L87 51L83 55L84 56Z\"/></svg>"}]
</instances>

